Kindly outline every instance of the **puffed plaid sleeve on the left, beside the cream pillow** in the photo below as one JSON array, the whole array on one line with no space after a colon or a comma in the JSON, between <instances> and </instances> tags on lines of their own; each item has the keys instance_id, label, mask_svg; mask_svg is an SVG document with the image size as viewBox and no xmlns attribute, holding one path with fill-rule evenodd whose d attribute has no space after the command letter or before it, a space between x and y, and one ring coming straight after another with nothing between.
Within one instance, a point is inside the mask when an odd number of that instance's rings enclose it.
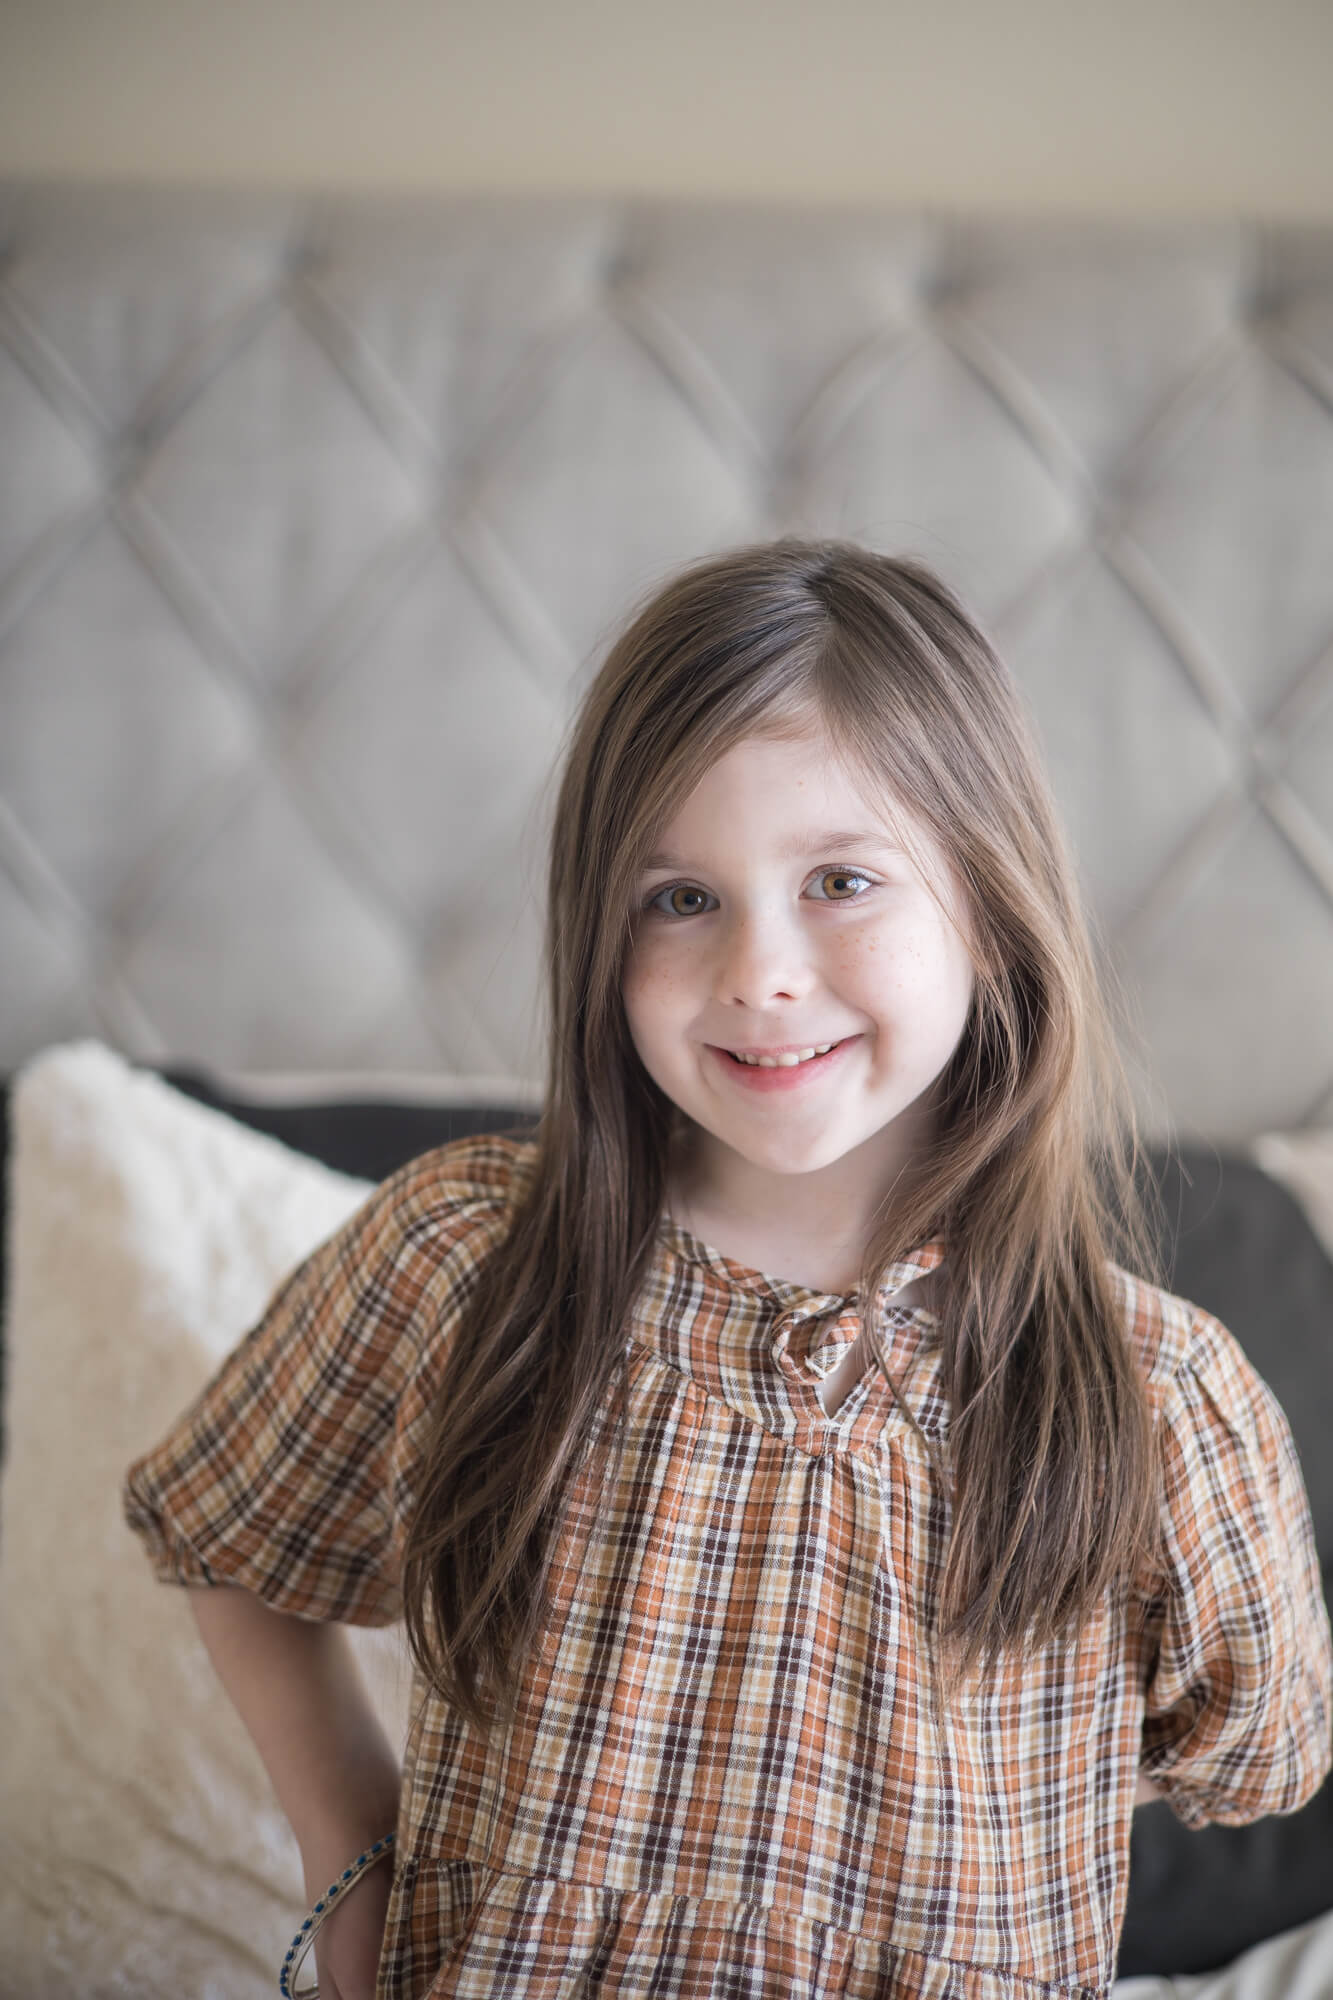
<instances>
[{"instance_id":1,"label":"puffed plaid sleeve on the left, beside the cream pillow","mask_svg":"<svg viewBox=\"0 0 1333 2000\"><path fill-rule=\"evenodd\" d=\"M512 1220L516 1144L456 1140L384 1180L128 1468L124 1518L162 1582L402 1616L404 1506L450 1334Z\"/></svg>"}]
</instances>

